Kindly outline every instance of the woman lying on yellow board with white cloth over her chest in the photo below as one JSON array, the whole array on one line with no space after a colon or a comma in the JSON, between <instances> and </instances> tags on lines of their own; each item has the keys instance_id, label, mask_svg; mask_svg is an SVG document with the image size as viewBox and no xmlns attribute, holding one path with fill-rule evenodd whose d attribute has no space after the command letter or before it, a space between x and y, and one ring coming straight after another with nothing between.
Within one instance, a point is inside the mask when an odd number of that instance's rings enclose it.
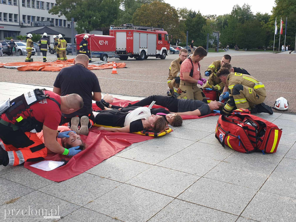
<instances>
[{"instance_id":1,"label":"woman lying on yellow board with white cloth over her chest","mask_svg":"<svg viewBox=\"0 0 296 222\"><path fill-rule=\"evenodd\" d=\"M119 126L121 128L99 127L99 130L112 132L133 133L144 129L162 132L167 128L165 118L160 115L151 115L148 107L139 107L131 112L122 110L93 111L95 123L103 126Z\"/></svg>"}]
</instances>

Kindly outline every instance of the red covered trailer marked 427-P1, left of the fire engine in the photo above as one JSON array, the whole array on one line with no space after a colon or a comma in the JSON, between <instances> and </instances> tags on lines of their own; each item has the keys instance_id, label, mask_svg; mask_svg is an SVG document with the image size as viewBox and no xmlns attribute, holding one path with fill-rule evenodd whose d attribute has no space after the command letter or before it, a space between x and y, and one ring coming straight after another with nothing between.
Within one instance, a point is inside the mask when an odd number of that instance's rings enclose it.
<instances>
[{"instance_id":1,"label":"red covered trailer marked 427-P1, left of the fire engine","mask_svg":"<svg viewBox=\"0 0 296 222\"><path fill-rule=\"evenodd\" d=\"M108 57L115 57L115 37L94 34L78 34L75 36L77 54L79 54L79 44L84 35L89 36L87 41L89 42L88 49L91 52L91 57L99 57L102 61L107 61Z\"/></svg>"}]
</instances>

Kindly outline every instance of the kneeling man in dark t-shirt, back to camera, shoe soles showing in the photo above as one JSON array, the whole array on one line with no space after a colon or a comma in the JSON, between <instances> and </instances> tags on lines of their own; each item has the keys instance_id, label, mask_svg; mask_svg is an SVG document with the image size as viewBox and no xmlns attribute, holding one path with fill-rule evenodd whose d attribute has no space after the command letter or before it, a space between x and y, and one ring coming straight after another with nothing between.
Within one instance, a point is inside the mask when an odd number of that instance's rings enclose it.
<instances>
[{"instance_id":1,"label":"kneeling man in dark t-shirt, back to camera, shoe soles showing","mask_svg":"<svg viewBox=\"0 0 296 222\"><path fill-rule=\"evenodd\" d=\"M61 96L77 93L83 98L84 106L80 110L71 114L63 113L61 124L70 122L71 118L76 116L79 118L87 116L94 122L94 116L92 114L92 100L100 101L102 99L99 80L93 72L87 69L89 58L84 54L79 54L76 56L74 64L75 65L73 66L63 68L59 72L54 82L53 92ZM74 131L78 131L78 124L81 125L82 129L82 123L80 123L77 118L73 118L73 125L74 124L77 124L77 128L76 126L71 127ZM88 127L90 126L91 124L88 123ZM87 133L88 130L85 132L84 127L84 131L79 134Z\"/></svg>"}]
</instances>

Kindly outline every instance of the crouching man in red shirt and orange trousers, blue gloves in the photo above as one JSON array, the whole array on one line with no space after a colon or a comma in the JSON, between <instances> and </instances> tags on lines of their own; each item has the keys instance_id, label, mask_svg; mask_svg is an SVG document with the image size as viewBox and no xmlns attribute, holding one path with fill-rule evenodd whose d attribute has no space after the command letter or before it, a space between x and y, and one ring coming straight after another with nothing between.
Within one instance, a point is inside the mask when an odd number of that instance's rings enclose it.
<instances>
[{"instance_id":1,"label":"crouching man in red shirt and orange trousers, blue gloves","mask_svg":"<svg viewBox=\"0 0 296 222\"><path fill-rule=\"evenodd\" d=\"M2 106L1 106L2 107ZM72 113L83 107L78 94L59 96L52 91L35 89L10 101L0 115L0 165L19 165L25 161L42 160L46 148L63 155L75 155L79 147L65 149L56 140L69 137L57 133L62 113ZM0 112L3 111L0 110ZM43 130L44 143L36 136ZM46 148L45 148L46 147Z\"/></svg>"}]
</instances>

